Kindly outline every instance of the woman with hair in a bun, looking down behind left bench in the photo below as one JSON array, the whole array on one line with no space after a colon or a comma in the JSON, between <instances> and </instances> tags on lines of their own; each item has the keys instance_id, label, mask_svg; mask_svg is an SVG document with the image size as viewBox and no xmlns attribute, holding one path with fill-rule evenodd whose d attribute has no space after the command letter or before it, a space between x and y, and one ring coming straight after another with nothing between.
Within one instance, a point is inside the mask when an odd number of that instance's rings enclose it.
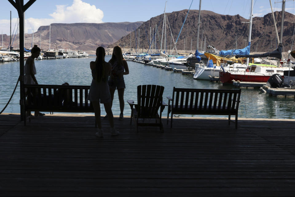
<instances>
[{"instance_id":1,"label":"woman with hair in a bun, looking down behind left bench","mask_svg":"<svg viewBox=\"0 0 295 197\"><path fill-rule=\"evenodd\" d=\"M35 77L36 67L34 59L38 58L40 55L41 49L34 45L34 47L31 49L31 56L27 58L26 64L25 64L25 77L24 77L24 84L38 84L37 79ZM35 116L44 116L45 114L40 113L39 111L35 111ZM30 112L28 112L28 115L26 116L32 116Z\"/></svg>"}]
</instances>

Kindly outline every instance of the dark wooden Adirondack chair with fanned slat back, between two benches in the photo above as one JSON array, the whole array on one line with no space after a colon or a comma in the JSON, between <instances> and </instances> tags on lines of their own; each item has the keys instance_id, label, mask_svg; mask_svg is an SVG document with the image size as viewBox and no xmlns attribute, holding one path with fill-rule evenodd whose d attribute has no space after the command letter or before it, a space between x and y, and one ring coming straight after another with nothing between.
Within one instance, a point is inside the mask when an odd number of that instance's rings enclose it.
<instances>
[{"instance_id":1,"label":"dark wooden Adirondack chair with fanned slat back, between two benches","mask_svg":"<svg viewBox=\"0 0 295 197\"><path fill-rule=\"evenodd\" d=\"M134 100L127 100L131 107L130 124L133 119L136 132L138 132L138 126L159 127L163 132L161 116L165 106L167 106L163 102L163 91L163 86L140 85L137 86L137 104L134 103ZM159 109L160 115L158 114ZM150 122L147 119L155 119L155 122Z\"/></svg>"}]
</instances>

